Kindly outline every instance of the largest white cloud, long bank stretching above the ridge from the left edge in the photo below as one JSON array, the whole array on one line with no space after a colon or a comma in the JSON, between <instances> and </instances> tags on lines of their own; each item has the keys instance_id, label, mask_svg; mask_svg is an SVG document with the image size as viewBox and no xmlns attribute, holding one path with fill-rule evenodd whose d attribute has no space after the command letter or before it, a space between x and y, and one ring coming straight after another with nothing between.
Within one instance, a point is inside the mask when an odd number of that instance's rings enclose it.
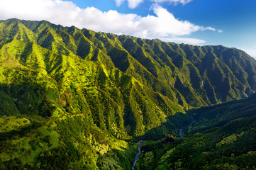
<instances>
[{"instance_id":1,"label":"largest white cloud, long bank stretching above the ridge from the left edge","mask_svg":"<svg viewBox=\"0 0 256 170\"><path fill-rule=\"evenodd\" d=\"M79 8L71 1L60 0L0 0L0 19L46 20L62 26L76 26L95 31L133 35L140 38L174 38L211 27L180 21L167 9L154 5L156 16L138 16L117 11L102 12L97 8Z\"/></svg>"}]
</instances>

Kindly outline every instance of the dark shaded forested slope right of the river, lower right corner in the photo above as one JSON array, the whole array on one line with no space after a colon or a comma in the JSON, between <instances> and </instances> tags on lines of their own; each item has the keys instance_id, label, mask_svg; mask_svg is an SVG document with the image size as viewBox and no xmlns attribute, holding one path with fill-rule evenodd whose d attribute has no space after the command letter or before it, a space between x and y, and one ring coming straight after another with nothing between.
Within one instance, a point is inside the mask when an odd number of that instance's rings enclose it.
<instances>
[{"instance_id":1,"label":"dark shaded forested slope right of the river, lower right corner","mask_svg":"<svg viewBox=\"0 0 256 170\"><path fill-rule=\"evenodd\" d=\"M256 95L189 111L186 138L145 142L140 169L255 169Z\"/></svg>"}]
</instances>

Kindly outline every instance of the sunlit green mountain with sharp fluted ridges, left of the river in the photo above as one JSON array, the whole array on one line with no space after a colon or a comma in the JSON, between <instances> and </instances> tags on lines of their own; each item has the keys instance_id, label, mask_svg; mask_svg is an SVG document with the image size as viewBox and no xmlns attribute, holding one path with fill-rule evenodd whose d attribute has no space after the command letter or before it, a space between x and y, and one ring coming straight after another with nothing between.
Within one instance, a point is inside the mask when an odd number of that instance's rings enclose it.
<instances>
[{"instance_id":1,"label":"sunlit green mountain with sharp fluted ridges, left of the river","mask_svg":"<svg viewBox=\"0 0 256 170\"><path fill-rule=\"evenodd\" d=\"M235 48L0 21L0 169L130 169L125 140L177 136L189 108L255 90Z\"/></svg>"}]
</instances>

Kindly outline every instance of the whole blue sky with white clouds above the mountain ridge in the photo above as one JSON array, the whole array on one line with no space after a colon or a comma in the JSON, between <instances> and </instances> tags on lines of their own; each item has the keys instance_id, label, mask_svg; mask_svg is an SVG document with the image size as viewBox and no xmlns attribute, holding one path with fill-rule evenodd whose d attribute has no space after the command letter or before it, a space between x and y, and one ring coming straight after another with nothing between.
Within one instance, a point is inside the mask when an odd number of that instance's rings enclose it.
<instances>
[{"instance_id":1,"label":"whole blue sky with white clouds above the mountain ridge","mask_svg":"<svg viewBox=\"0 0 256 170\"><path fill-rule=\"evenodd\" d=\"M0 19L47 20L62 26L225 45L256 57L255 0L0 0Z\"/></svg>"}]
</instances>

